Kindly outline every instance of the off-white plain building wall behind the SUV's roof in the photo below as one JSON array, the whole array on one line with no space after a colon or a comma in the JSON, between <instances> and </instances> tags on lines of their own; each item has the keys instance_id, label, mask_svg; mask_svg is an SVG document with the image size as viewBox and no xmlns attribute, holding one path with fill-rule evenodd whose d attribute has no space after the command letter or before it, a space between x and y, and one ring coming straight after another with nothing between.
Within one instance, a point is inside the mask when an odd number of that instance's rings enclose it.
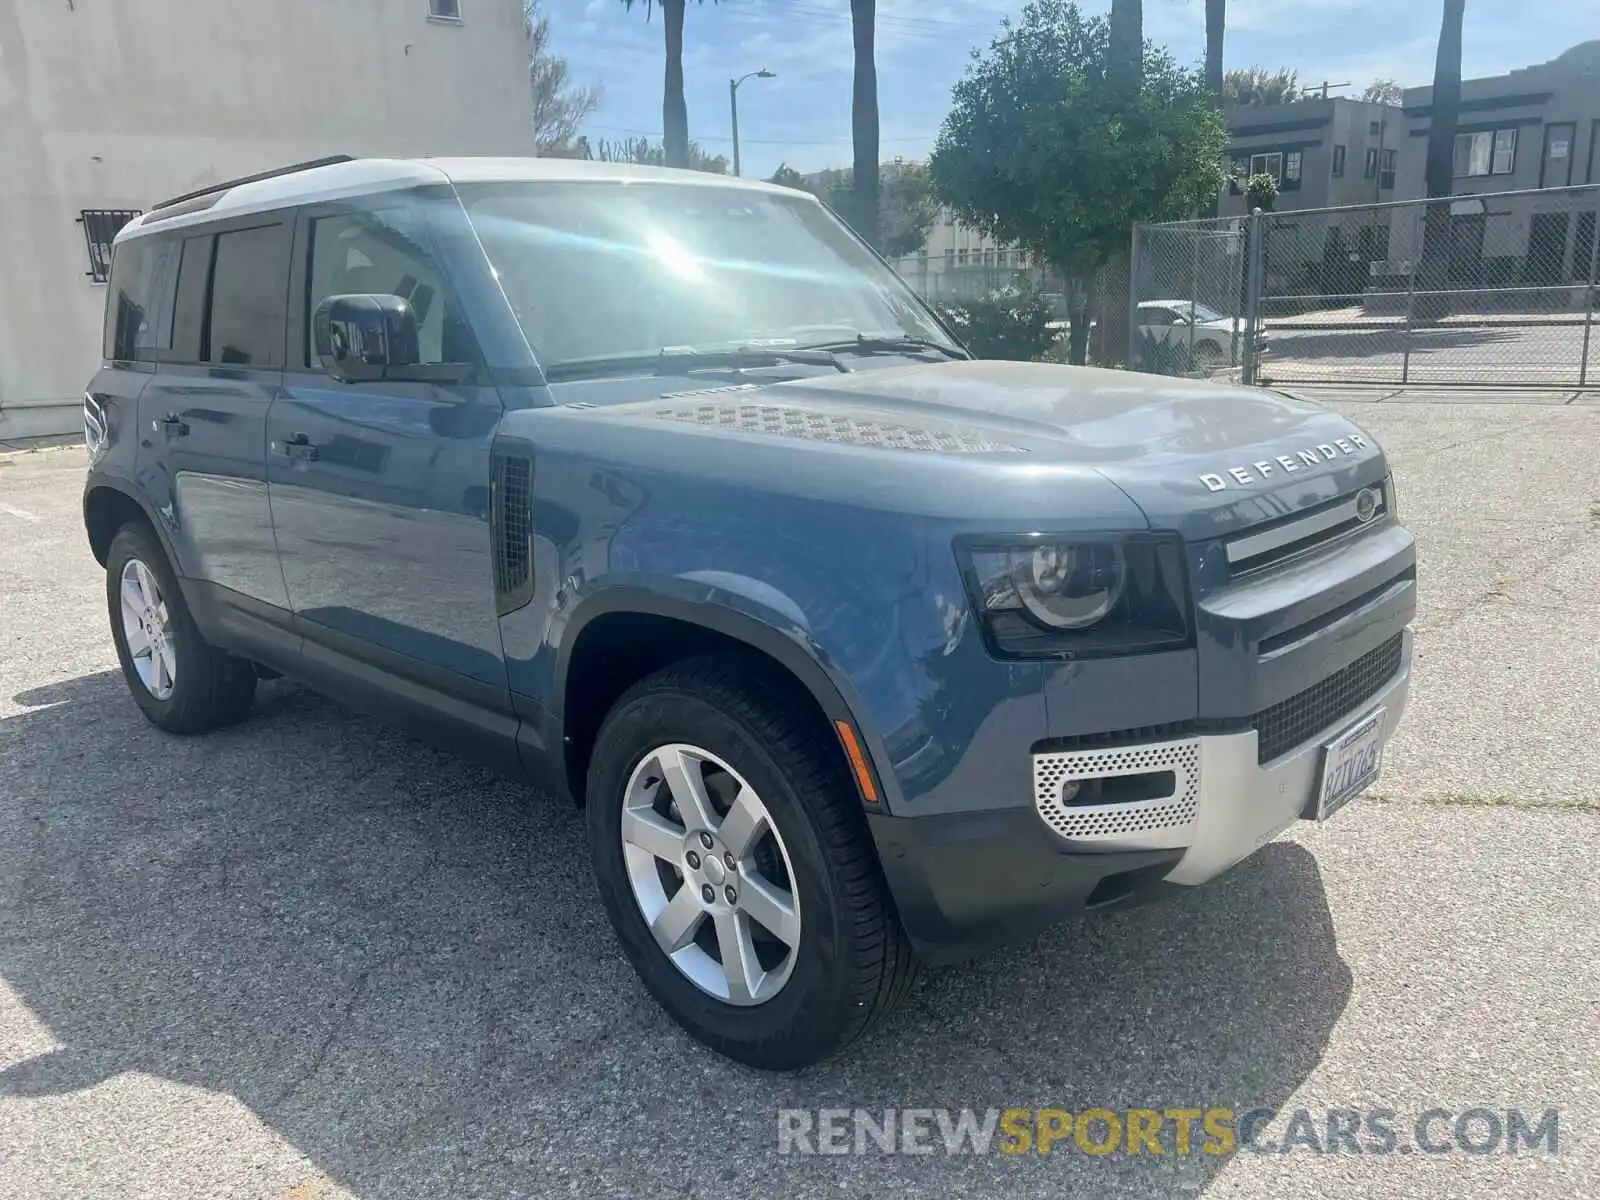
<instances>
[{"instance_id":1,"label":"off-white plain building wall behind the SUV's roof","mask_svg":"<svg viewBox=\"0 0 1600 1200\"><path fill-rule=\"evenodd\" d=\"M85 208L328 154L533 154L520 0L0 0L0 440L70 432Z\"/></svg>"}]
</instances>

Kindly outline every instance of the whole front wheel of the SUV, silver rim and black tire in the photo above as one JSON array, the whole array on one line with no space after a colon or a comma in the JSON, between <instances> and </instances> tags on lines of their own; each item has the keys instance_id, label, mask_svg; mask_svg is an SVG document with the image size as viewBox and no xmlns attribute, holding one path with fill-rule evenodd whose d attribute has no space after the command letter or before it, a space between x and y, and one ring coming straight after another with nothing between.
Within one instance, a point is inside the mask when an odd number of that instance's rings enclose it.
<instances>
[{"instance_id":1,"label":"whole front wheel of the SUV, silver rim and black tire","mask_svg":"<svg viewBox=\"0 0 1600 1200\"><path fill-rule=\"evenodd\" d=\"M667 667L606 717L589 771L600 894L690 1034L754 1067L856 1038L915 971L827 728L738 659Z\"/></svg>"}]
</instances>

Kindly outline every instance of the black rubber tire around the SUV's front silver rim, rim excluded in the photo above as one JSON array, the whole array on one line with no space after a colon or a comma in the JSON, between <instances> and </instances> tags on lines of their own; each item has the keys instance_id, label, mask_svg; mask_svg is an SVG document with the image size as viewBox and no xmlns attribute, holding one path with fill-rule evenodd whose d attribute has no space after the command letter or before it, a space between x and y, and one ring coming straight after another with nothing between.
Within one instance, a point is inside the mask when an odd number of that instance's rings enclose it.
<instances>
[{"instance_id":1,"label":"black rubber tire around the SUV's front silver rim, rim excluded","mask_svg":"<svg viewBox=\"0 0 1600 1200\"><path fill-rule=\"evenodd\" d=\"M634 970L693 1037L763 1070L797 1070L837 1053L891 1011L917 973L843 754L826 725L797 720L774 701L786 694L782 680L734 656L666 667L606 715L587 781L600 898ZM800 944L789 981L765 1003L736 1006L690 982L634 898L621 845L624 792L643 757L670 742L733 766L789 850Z\"/></svg>"}]
</instances>

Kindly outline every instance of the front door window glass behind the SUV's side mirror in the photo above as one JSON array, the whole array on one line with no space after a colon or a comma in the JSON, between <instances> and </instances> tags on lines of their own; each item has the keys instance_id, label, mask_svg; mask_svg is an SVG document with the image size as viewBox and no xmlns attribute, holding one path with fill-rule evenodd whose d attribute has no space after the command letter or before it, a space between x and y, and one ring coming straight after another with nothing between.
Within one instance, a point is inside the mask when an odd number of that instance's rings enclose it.
<instances>
[{"instance_id":1,"label":"front door window glass behind the SUV's side mirror","mask_svg":"<svg viewBox=\"0 0 1600 1200\"><path fill-rule=\"evenodd\" d=\"M467 326L446 296L443 272L422 245L419 221L410 208L386 208L310 222L307 354L310 315L328 296L402 296L416 315L422 363L461 363L477 357Z\"/></svg>"}]
</instances>

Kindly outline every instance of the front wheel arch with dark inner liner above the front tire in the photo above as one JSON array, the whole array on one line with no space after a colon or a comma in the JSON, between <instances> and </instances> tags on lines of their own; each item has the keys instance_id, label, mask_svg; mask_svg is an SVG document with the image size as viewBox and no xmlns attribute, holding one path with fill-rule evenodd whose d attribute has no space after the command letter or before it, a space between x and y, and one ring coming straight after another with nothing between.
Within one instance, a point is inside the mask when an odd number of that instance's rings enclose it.
<instances>
[{"instance_id":1,"label":"front wheel arch with dark inner liner above the front tire","mask_svg":"<svg viewBox=\"0 0 1600 1200\"><path fill-rule=\"evenodd\" d=\"M830 726L835 744L837 722L846 722L862 742L880 805L888 808L883 802L891 803L893 774L885 770L874 730L858 715L862 706L792 616L798 611L765 606L749 611L646 587L610 587L581 603L557 659L554 694L566 784L578 803L584 798L595 736L616 699L670 662L728 653L750 656L754 666L774 672L774 680L792 688L794 698Z\"/></svg>"}]
</instances>

